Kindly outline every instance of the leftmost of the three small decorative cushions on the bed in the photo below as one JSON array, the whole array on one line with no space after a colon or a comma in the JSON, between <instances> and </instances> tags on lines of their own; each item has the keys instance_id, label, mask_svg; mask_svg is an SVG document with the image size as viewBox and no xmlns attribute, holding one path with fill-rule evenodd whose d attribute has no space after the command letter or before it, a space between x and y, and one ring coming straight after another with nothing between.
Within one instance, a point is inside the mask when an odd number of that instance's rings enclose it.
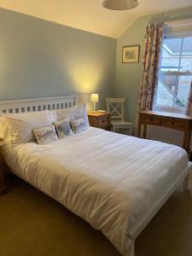
<instances>
[{"instance_id":1,"label":"leftmost of the three small decorative cushions on the bed","mask_svg":"<svg viewBox=\"0 0 192 256\"><path fill-rule=\"evenodd\" d=\"M54 125L46 126L43 128L35 128L32 131L34 132L38 144L40 145L53 143L58 140Z\"/></svg>"}]
</instances>

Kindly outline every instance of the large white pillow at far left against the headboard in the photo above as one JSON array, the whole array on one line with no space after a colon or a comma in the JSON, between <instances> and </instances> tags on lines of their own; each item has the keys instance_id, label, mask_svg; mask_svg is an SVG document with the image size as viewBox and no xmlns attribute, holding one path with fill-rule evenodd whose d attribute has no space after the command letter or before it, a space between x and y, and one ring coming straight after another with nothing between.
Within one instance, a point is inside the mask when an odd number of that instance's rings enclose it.
<instances>
[{"instance_id":1,"label":"large white pillow at far left against the headboard","mask_svg":"<svg viewBox=\"0 0 192 256\"><path fill-rule=\"evenodd\" d=\"M34 128L52 125L45 111L28 113L2 113L3 140L14 145L34 141Z\"/></svg>"}]
</instances>

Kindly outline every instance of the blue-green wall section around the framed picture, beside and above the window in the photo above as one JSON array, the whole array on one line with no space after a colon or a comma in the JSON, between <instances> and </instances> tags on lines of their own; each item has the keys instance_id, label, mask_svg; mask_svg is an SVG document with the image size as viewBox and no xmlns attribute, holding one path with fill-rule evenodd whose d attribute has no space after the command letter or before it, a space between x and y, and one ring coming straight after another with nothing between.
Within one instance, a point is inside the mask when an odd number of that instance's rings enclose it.
<instances>
[{"instance_id":1,"label":"blue-green wall section around the framed picture, beside and above the window","mask_svg":"<svg viewBox=\"0 0 192 256\"><path fill-rule=\"evenodd\" d=\"M136 20L123 34L118 38L117 56L116 56L116 78L115 78L115 96L126 97L126 117L136 124L137 116L137 98L141 81L142 72L142 53L145 27L149 22L182 20L192 17L192 8L180 9L158 15L147 15ZM140 44L139 63L122 63L122 47L124 45Z\"/></svg>"}]
</instances>

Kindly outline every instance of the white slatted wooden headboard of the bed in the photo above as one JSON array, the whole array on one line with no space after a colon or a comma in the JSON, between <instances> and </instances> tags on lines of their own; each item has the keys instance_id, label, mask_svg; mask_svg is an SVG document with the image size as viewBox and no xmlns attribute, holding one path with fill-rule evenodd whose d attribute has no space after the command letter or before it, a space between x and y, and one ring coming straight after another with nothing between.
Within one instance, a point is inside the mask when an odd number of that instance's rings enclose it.
<instances>
[{"instance_id":1,"label":"white slatted wooden headboard of the bed","mask_svg":"<svg viewBox=\"0 0 192 256\"><path fill-rule=\"evenodd\" d=\"M63 109L78 104L77 96L33 98L15 101L0 101L0 113L24 113L45 109Z\"/></svg>"}]
</instances>

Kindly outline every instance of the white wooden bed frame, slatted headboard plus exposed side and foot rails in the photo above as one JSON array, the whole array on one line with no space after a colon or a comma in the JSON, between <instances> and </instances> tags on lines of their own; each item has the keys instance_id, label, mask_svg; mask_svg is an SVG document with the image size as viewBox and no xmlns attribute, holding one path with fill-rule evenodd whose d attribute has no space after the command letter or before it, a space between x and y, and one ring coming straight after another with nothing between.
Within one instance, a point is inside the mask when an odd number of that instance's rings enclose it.
<instances>
[{"instance_id":1,"label":"white wooden bed frame, slatted headboard plus exposed side and foot rails","mask_svg":"<svg viewBox=\"0 0 192 256\"><path fill-rule=\"evenodd\" d=\"M41 111L44 109L61 109L69 108L71 106L77 105L77 96L60 96L60 97L49 97L49 98L38 98L38 99L25 99L16 101L0 101L0 113L22 113L30 111ZM189 190L191 188L191 171L192 163L189 162L186 170L183 170L181 175L177 178L175 183L170 185L170 189L166 191L166 195L160 196L160 200L157 201L154 209L150 212L144 212L143 215L137 219L137 223L131 227L129 234L131 238L135 240L137 236L144 230L147 224L150 222L154 215L160 210L160 207L164 205L167 199L172 195L172 193L183 183L183 189ZM14 172L14 170L10 170ZM15 173L15 175L18 175ZM23 177L21 177L24 179ZM24 179L25 180L25 179ZM26 180L27 183L30 183ZM33 183L32 186L36 187ZM39 189L39 188L37 188ZM42 191L44 192L44 191Z\"/></svg>"}]
</instances>

